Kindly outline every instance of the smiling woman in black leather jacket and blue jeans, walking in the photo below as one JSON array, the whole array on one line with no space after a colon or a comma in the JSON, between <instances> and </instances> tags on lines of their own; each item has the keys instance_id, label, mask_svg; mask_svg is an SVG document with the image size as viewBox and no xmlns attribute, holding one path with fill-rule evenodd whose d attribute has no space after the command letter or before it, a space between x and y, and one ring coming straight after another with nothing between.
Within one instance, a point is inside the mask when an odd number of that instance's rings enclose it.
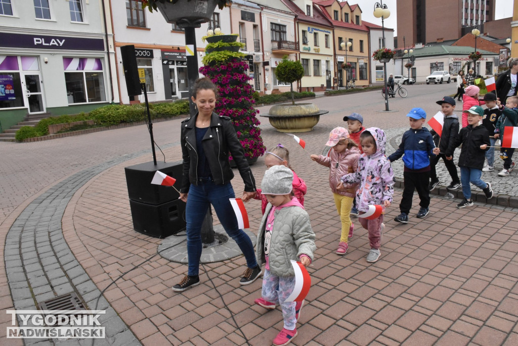
<instances>
[{"instance_id":1,"label":"smiling woman in black leather jacket and blue jeans, walking","mask_svg":"<svg viewBox=\"0 0 518 346\"><path fill-rule=\"evenodd\" d=\"M199 260L202 256L202 223L212 204L221 225L238 244L247 260L247 270L239 282L248 285L261 275L250 237L239 229L229 198L235 198L230 183L234 173L228 161L232 155L244 182L243 200L255 196L255 180L244 158L244 151L236 131L228 117L213 112L217 87L209 78L196 80L192 101L198 114L181 123L181 147L183 157L180 199L187 203L187 254L189 270L182 281L172 289L181 292L199 284Z\"/></svg>"}]
</instances>

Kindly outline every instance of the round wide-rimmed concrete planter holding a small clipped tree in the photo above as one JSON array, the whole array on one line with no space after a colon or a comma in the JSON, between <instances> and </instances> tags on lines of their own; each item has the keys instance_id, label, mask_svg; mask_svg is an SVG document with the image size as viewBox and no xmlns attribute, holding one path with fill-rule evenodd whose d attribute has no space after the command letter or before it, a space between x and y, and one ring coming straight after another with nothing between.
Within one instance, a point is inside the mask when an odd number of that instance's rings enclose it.
<instances>
[{"instance_id":1,"label":"round wide-rimmed concrete planter holding a small clipped tree","mask_svg":"<svg viewBox=\"0 0 518 346\"><path fill-rule=\"evenodd\" d=\"M279 132L308 132L319 122L322 114L327 110L320 110L313 103L279 104L270 108L269 114L261 115L268 118L271 126Z\"/></svg>"}]
</instances>

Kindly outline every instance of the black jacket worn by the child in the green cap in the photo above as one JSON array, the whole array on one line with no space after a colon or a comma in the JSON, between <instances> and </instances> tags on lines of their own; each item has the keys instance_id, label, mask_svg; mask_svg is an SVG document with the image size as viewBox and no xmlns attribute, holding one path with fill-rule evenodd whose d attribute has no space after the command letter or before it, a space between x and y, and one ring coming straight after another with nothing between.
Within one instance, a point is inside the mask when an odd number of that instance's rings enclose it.
<instances>
[{"instance_id":1,"label":"black jacket worn by the child in the green cap","mask_svg":"<svg viewBox=\"0 0 518 346\"><path fill-rule=\"evenodd\" d=\"M468 125L461 129L455 139L455 147L462 144L461 155L458 157L458 166L476 168L481 170L484 167L484 153L488 149L482 150L480 146L487 144L490 146L489 133L483 125L472 127Z\"/></svg>"}]
</instances>

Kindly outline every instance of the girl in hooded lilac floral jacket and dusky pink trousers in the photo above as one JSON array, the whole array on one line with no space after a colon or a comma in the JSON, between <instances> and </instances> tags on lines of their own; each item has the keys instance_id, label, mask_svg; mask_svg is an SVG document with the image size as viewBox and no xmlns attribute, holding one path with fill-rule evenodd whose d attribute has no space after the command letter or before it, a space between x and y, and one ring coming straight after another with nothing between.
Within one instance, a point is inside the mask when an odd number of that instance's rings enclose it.
<instances>
[{"instance_id":1,"label":"girl in hooded lilac floral jacket and dusky pink trousers","mask_svg":"<svg viewBox=\"0 0 518 346\"><path fill-rule=\"evenodd\" d=\"M356 192L356 207L361 215L367 212L370 204L390 206L394 193L394 171L385 157L386 137L383 130L368 128L362 132L360 141L363 154L358 161L358 170L342 176L338 188L343 189L343 184L360 183ZM359 218L359 222L369 232L370 252L367 262L376 262L381 255L381 234L385 228L383 214L372 220Z\"/></svg>"}]
</instances>

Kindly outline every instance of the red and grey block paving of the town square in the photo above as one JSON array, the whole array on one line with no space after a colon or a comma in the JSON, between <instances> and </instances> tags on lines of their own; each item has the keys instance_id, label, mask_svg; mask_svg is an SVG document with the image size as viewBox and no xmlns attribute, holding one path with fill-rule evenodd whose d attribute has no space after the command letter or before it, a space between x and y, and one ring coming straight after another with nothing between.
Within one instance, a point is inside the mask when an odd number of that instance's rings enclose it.
<instances>
[{"instance_id":1,"label":"red and grey block paving of the town square","mask_svg":"<svg viewBox=\"0 0 518 346\"><path fill-rule=\"evenodd\" d=\"M514 226L518 217L511 207L476 203L472 208L457 210L458 200L434 196L427 218L420 220L411 215L409 224L400 225L392 220L398 214L401 196L396 189L395 203L385 216L387 228L380 261L372 265L365 262L368 239L355 218L357 228L348 254L343 257L334 254L340 232L339 217L329 192L326 169L309 161L309 153L320 153L330 129L343 124L341 117L358 108L362 109L360 113L367 126L376 123L387 129L390 136L406 130L408 121L404 111L413 104L422 103L429 114L437 111L437 106L421 100L440 99L442 89L412 86L411 90L416 95L414 100L391 101L394 108L401 109L393 114L377 110L380 104L383 106L382 102L369 104L369 98L378 96L374 92L315 100L331 112L322 116L314 131L300 134L307 142L306 150L269 124L262 126L267 147L283 143L291 150L292 166L308 184L305 206L317 234L318 250L309 269L313 285L294 344L512 345L518 342L515 308L518 306L515 251L518 236ZM355 105L348 106L352 100ZM261 111L267 108L261 107ZM162 147L167 161L172 162L181 158L178 143L170 142L171 138L177 138L179 121L168 123L164 123L164 133L155 139L166 143ZM15 301L16 308L24 306L24 301L29 304L30 300L34 306L35 301L53 292L52 289L57 293L68 292L70 288L80 291L90 306L100 290L118 279L106 290L104 298L111 307L108 309L120 321L113 316L107 328L123 331L128 339L116 336L106 343L128 344L127 340L138 340L153 345L244 344L246 340L225 309L221 294L250 344L269 344L282 326L282 315L279 309L266 313L261 307L253 306L253 300L260 295L260 281L248 286L238 284L244 270L242 256L203 266L202 272L208 270L208 275L202 274L202 284L191 290L178 294L170 289L186 267L157 255L161 240L133 230L123 178L124 167L150 160L149 150L127 151L122 156L123 150L103 151L98 147L106 144L96 142L109 136L110 144L117 145L117 141L124 141L131 133L131 129L122 136L120 132L107 131L105 135L85 135L76 141L55 140L52 146L61 146L61 150L73 142L91 147L80 153L80 159L77 155L72 158L71 162L85 161L76 166L81 168L79 171L57 173L55 181L49 175L46 182L40 183L36 179L38 169L33 173L19 165L18 172L27 172L27 177L19 177L22 183L32 182L31 188L42 192L38 192L36 199L1 195L6 215L0 219L0 234L6 239L2 250L7 274L4 272L3 276L11 286L10 290L0 286L2 309L12 308L10 299ZM167 137L168 141L162 140ZM50 147L47 148L53 153ZM60 151L55 150L55 153ZM9 153L2 157L9 158ZM105 159L95 162L99 157ZM60 162L55 154L54 159ZM39 163L37 156L26 160L27 166L31 166L31 160L33 167ZM7 167L15 167L12 162L15 160L8 161ZM59 172L56 168L42 165L40 170ZM66 168L72 169L70 165ZM259 184L265 170L262 158L252 170ZM12 176L8 178L0 182L2 191L9 189L4 185L7 180L8 183L14 180ZM502 179L500 184L515 185L514 173L504 179L507 180ZM22 184L12 184L22 192L20 195L25 193ZM233 184L236 191L242 190L238 178ZM414 209L416 212L418 208ZM247 210L250 230L256 233L260 203L249 202ZM17 234L19 237L15 237ZM142 264L143 261L146 262ZM136 265L140 266L120 278ZM23 270L16 269L20 267ZM44 272L40 277L46 280L36 280L28 274L41 273L40 270ZM89 282L96 288L88 285ZM28 285L39 290L28 295ZM2 322L0 333L5 333L5 318ZM5 334L0 334L0 340L0 343L6 341ZM41 344L46 343L52 341Z\"/></svg>"}]
</instances>

